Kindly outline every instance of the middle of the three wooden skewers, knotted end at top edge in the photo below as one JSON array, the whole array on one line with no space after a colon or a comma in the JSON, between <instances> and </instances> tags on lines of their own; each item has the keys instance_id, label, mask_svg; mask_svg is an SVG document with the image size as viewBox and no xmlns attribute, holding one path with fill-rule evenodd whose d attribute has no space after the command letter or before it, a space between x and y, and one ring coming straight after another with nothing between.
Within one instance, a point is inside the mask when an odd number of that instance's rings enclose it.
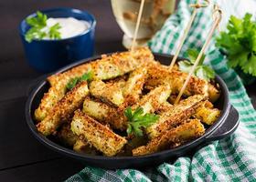
<instances>
[{"instance_id":1,"label":"middle of the three wooden skewers, knotted end at top edge","mask_svg":"<svg viewBox=\"0 0 256 182\"><path fill-rule=\"evenodd\" d=\"M177 56L179 55L179 52L180 52L180 50L181 50L181 47L182 47L182 45L184 44L184 42L185 42L185 40L186 40L186 37L187 37L187 34L188 34L188 32L189 32L189 30L190 30L190 28L191 28L191 25L193 24L193 22L194 22L194 20L195 20L195 17L196 17L196 15L197 15L197 9L200 8L200 7L207 7L207 6L208 6L208 4L209 4L208 0L205 0L205 2L206 2L205 4L198 4L198 0L197 0L197 4L192 4L192 5L190 5L190 7L194 7L194 11L193 11L193 13L192 13L192 15L191 15L191 17L190 17L190 19L189 19L189 22L188 22L187 27L186 27L186 29L185 29L185 31L184 31L184 34L182 35L182 37L181 37L181 39L180 39L179 45L177 46L176 54L175 54L175 56L174 56L173 59L172 59L172 62L171 62L171 64L170 64L170 66L169 66L169 70L172 70L173 67L174 67L175 64L176 64L176 58L177 58Z\"/></svg>"}]
</instances>

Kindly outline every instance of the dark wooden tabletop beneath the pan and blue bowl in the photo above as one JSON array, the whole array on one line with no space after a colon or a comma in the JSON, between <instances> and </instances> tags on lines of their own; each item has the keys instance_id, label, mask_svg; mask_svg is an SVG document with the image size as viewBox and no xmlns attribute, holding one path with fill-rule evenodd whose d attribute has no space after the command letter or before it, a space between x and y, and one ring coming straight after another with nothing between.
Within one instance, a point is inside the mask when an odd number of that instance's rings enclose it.
<instances>
[{"instance_id":1,"label":"dark wooden tabletop beneath the pan and blue bowl","mask_svg":"<svg viewBox=\"0 0 256 182\"><path fill-rule=\"evenodd\" d=\"M84 167L42 146L25 120L27 92L37 73L27 65L18 35L22 18L37 9L68 6L96 16L96 54L123 50L110 0L0 1L0 181L61 181ZM256 100L255 86L249 93Z\"/></svg>"}]
</instances>

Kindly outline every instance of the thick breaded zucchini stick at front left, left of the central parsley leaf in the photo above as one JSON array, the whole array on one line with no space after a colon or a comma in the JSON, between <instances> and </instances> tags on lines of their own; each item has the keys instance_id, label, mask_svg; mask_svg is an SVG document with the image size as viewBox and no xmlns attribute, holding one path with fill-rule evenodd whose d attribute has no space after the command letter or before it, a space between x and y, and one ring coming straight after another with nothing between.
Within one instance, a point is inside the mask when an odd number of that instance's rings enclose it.
<instances>
[{"instance_id":1,"label":"thick breaded zucchini stick at front left, left of the central parsley leaf","mask_svg":"<svg viewBox=\"0 0 256 182\"><path fill-rule=\"evenodd\" d=\"M76 135L83 136L88 143L108 157L115 156L127 143L125 138L113 133L109 127L101 125L80 110L75 112L71 130Z\"/></svg>"}]
</instances>

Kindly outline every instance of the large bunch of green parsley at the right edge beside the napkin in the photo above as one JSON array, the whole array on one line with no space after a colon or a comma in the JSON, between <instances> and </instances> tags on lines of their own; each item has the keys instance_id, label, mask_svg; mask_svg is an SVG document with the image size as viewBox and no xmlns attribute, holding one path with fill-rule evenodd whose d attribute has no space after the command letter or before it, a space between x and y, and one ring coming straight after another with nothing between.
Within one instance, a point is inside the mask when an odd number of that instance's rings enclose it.
<instances>
[{"instance_id":1,"label":"large bunch of green parsley at the right edge beside the napkin","mask_svg":"<svg viewBox=\"0 0 256 182\"><path fill-rule=\"evenodd\" d=\"M217 45L226 52L228 66L256 76L256 22L251 16L240 19L231 15L228 30L220 33Z\"/></svg>"}]
</instances>

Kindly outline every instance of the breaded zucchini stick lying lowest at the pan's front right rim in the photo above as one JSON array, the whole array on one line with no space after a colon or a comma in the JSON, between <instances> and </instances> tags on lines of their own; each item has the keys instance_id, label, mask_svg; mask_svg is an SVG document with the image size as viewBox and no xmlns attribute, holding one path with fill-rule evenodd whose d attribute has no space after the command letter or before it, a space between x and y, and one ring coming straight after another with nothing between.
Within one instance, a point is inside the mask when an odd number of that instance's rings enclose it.
<instances>
[{"instance_id":1,"label":"breaded zucchini stick lying lowest at the pan's front right rim","mask_svg":"<svg viewBox=\"0 0 256 182\"><path fill-rule=\"evenodd\" d=\"M202 136L205 133L204 126L198 119L188 120L181 126L163 132L153 138L146 146L133 149L133 156L144 156L167 149L170 145L178 146L185 141Z\"/></svg>"}]
</instances>

